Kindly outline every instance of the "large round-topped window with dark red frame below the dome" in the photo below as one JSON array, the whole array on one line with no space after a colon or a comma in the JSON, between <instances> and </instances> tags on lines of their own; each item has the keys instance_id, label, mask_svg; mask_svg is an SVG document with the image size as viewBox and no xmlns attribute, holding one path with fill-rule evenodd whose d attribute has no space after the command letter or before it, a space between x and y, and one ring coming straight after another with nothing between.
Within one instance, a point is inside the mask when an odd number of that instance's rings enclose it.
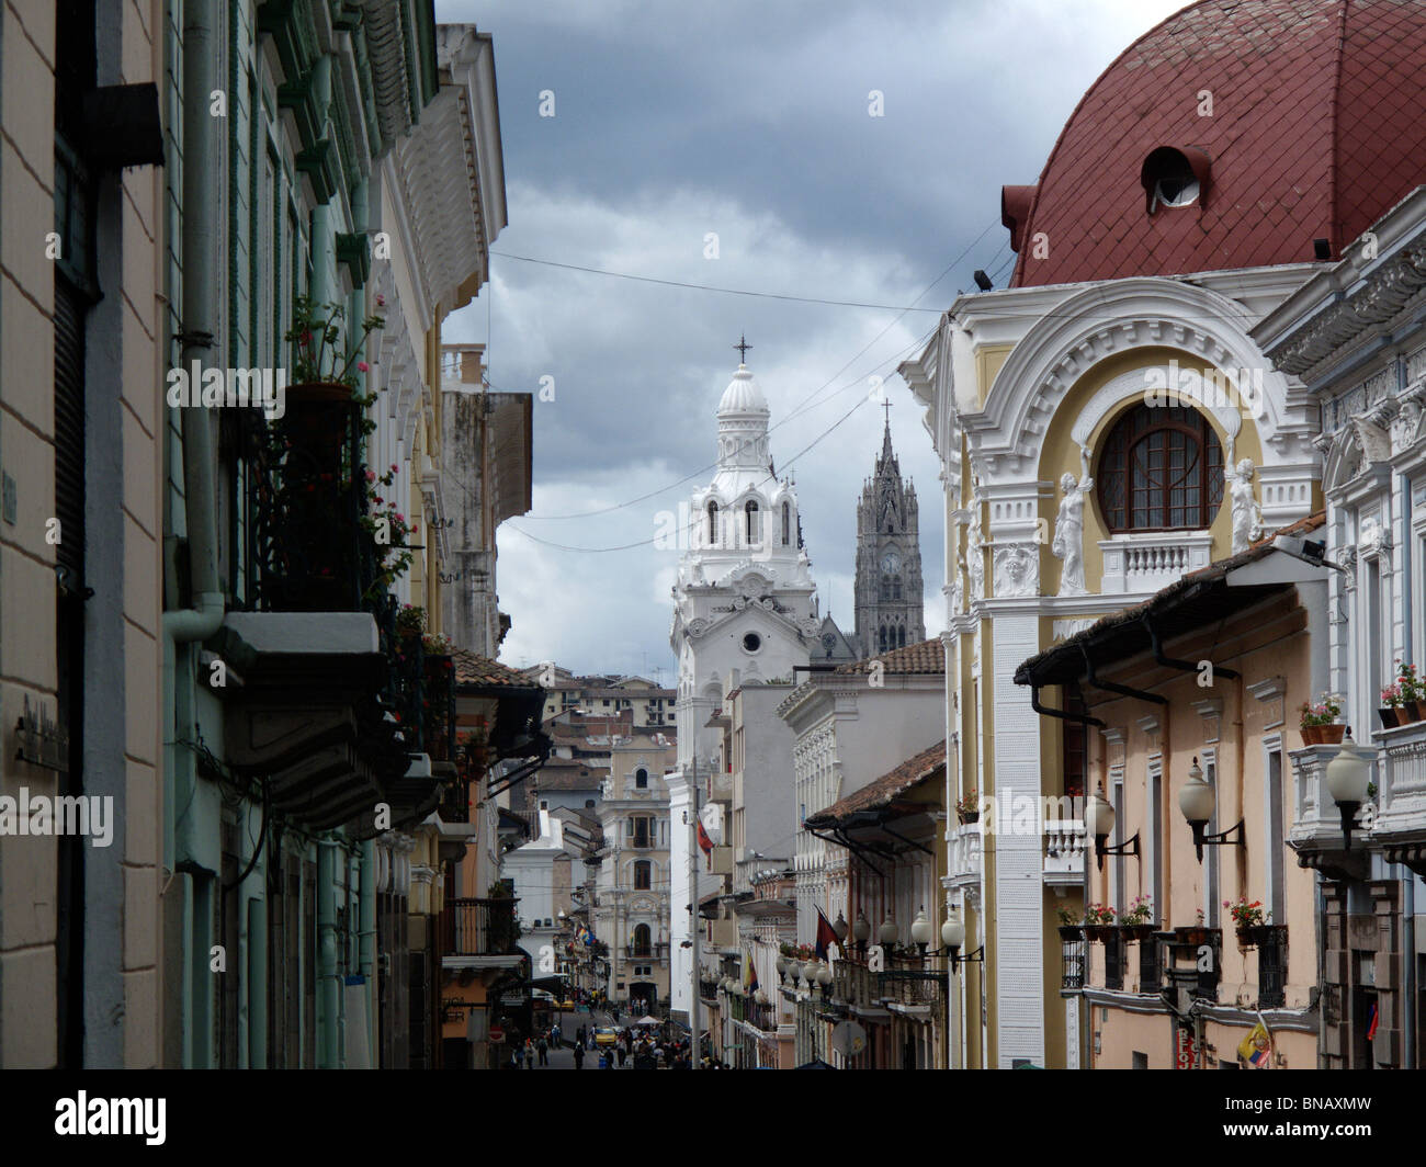
<instances>
[{"instance_id":1,"label":"large round-topped window with dark red frame below the dome","mask_svg":"<svg viewBox=\"0 0 1426 1167\"><path fill-rule=\"evenodd\" d=\"M1104 442L1099 506L1111 532L1202 531L1224 501L1224 449L1184 405L1135 405Z\"/></svg>"}]
</instances>

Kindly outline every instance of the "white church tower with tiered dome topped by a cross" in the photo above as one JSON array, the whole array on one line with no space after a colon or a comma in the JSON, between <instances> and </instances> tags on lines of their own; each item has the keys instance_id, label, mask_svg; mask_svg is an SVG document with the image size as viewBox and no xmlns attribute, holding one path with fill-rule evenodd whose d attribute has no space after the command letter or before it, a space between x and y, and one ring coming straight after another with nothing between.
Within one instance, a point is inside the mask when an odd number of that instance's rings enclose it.
<instances>
[{"instance_id":1,"label":"white church tower with tiered dome topped by a cross","mask_svg":"<svg viewBox=\"0 0 1426 1167\"><path fill-rule=\"evenodd\" d=\"M744 345L736 347L746 355ZM673 588L669 643L679 661L679 755L665 778L670 795L669 996L672 1010L683 1016L696 1004L692 949L684 944L693 920L687 822L694 752L700 802L706 803L720 733L707 722L723 703L724 682L791 679L793 666L807 663L821 628L797 494L790 479L777 478L767 448L769 415L763 391L740 364L719 401L717 472L693 494L687 549Z\"/></svg>"}]
</instances>

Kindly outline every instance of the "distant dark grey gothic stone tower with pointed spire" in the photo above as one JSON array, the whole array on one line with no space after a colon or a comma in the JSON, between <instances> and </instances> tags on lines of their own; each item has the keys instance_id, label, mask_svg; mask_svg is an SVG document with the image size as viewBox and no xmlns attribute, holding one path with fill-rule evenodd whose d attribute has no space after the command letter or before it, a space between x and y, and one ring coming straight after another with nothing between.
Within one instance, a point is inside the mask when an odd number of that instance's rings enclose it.
<instances>
[{"instance_id":1,"label":"distant dark grey gothic stone tower with pointed spire","mask_svg":"<svg viewBox=\"0 0 1426 1167\"><path fill-rule=\"evenodd\" d=\"M903 481L891 451L890 417L877 468L857 504L856 602L863 656L925 639L915 486Z\"/></svg>"}]
</instances>

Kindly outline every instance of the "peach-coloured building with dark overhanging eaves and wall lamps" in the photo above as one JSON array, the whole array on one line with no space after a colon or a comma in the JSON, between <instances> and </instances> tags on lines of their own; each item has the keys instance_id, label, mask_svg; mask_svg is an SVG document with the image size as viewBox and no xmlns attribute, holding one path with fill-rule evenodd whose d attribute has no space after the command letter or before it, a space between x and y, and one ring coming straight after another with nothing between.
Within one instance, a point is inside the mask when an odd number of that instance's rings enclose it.
<instances>
[{"instance_id":1,"label":"peach-coloured building with dark overhanging eaves and wall lamps","mask_svg":"<svg viewBox=\"0 0 1426 1167\"><path fill-rule=\"evenodd\" d=\"M1248 1067L1239 1043L1259 1023L1273 1069L1316 1066L1316 889L1288 846L1288 755L1296 710L1325 688L1326 575L1269 536L1017 671L1044 720L1089 730L1082 895L1114 922L1075 926L1071 902L1044 939L1061 992L1085 1006L1087 1067ZM1201 849L1194 783L1212 790ZM1258 904L1253 927L1238 926L1239 900ZM1135 903L1142 920L1122 923Z\"/></svg>"}]
</instances>

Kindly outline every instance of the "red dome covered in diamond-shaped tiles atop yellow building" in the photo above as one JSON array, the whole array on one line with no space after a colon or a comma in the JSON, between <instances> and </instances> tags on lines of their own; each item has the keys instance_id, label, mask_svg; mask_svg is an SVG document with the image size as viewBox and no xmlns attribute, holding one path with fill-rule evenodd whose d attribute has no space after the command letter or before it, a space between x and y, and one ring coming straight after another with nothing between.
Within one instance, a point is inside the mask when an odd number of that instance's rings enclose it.
<instances>
[{"instance_id":1,"label":"red dome covered in diamond-shaped tiles atop yellow building","mask_svg":"<svg viewBox=\"0 0 1426 1167\"><path fill-rule=\"evenodd\" d=\"M1159 147L1208 181L1149 215ZM1005 188L1011 285L1303 263L1318 238L1339 258L1422 183L1426 0L1202 0L1089 87L1038 187Z\"/></svg>"}]
</instances>

